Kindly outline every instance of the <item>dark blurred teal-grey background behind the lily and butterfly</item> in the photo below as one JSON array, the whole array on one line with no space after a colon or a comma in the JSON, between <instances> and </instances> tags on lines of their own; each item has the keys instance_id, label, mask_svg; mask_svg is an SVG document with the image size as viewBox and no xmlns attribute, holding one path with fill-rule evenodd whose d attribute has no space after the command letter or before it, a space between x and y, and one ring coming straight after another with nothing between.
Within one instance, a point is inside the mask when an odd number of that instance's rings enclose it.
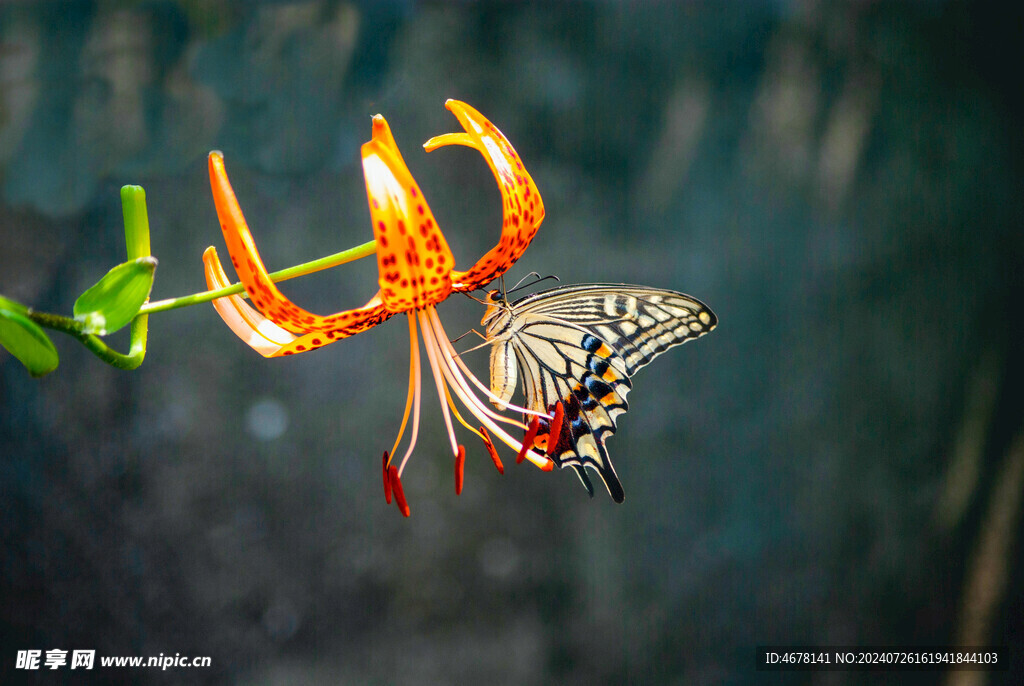
<instances>
[{"instance_id":1,"label":"dark blurred teal-grey background behind the lily and butterfly","mask_svg":"<svg viewBox=\"0 0 1024 686\"><path fill-rule=\"evenodd\" d=\"M224 254L206 154L270 269L372 238L387 117L456 253L496 241L464 99L547 219L511 272L681 290L719 315L634 379L627 500L495 473L439 408L384 503L406 326L265 360L209 306L144 365L0 353L0 673L18 649L210 655L89 683L861 683L755 646L1002 644L1024 670L1020 8L973 3L78 2L0 8L0 292L70 312L146 189L155 299ZM233 274L232 274L233 275ZM364 260L284 286L333 312ZM440 307L449 333L482 308ZM121 335L123 336L123 334ZM115 337L121 349L123 338ZM469 340L469 339L467 339ZM1015 352L1016 351L1016 352ZM486 374L486 353L471 365ZM37 675L38 676L38 675ZM85 683L67 669L39 683Z\"/></svg>"}]
</instances>

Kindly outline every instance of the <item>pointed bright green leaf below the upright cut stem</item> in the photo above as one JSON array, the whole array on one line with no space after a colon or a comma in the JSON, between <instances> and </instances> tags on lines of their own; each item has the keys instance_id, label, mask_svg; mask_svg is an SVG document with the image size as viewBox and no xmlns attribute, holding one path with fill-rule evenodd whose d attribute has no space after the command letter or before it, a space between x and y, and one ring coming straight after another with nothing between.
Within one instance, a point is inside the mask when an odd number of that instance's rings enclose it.
<instances>
[{"instance_id":1,"label":"pointed bright green leaf below the upright cut stem","mask_svg":"<svg viewBox=\"0 0 1024 686\"><path fill-rule=\"evenodd\" d=\"M86 334L105 336L125 326L150 297L156 257L119 264L75 301L75 318Z\"/></svg>"}]
</instances>

